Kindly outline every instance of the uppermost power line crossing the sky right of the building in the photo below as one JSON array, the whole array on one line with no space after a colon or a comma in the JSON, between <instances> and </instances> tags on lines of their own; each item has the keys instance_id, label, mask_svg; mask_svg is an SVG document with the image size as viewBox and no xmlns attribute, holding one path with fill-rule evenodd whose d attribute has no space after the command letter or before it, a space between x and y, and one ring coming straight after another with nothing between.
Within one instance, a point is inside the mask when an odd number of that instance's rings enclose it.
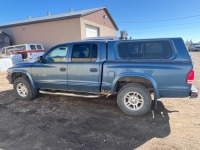
<instances>
[{"instance_id":1,"label":"uppermost power line crossing the sky right of the building","mask_svg":"<svg viewBox=\"0 0 200 150\"><path fill-rule=\"evenodd\" d=\"M179 17L179 18L171 18L171 19L161 19L161 20L148 20L148 21L118 21L117 23L150 23L150 22L164 22L164 21L172 21L172 20L181 20L181 19L188 19L200 17L200 15L193 15L193 16L186 16L186 17Z\"/></svg>"}]
</instances>

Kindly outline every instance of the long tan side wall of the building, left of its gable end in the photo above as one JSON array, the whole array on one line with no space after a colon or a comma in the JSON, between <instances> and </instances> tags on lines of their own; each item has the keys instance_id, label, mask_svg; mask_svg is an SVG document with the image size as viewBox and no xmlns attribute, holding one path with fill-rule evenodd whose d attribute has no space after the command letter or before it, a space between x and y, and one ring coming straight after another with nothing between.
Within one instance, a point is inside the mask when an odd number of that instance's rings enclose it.
<instances>
[{"instance_id":1,"label":"long tan side wall of the building, left of its gable end","mask_svg":"<svg viewBox=\"0 0 200 150\"><path fill-rule=\"evenodd\" d=\"M11 44L41 43L45 49L63 42L81 39L80 18L3 28Z\"/></svg>"}]
</instances>

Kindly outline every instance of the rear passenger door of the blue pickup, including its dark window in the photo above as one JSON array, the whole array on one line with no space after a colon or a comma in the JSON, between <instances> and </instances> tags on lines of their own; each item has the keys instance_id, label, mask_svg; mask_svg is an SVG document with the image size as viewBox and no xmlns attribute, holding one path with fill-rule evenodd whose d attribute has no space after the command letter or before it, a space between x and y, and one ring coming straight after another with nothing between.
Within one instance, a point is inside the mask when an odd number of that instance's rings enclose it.
<instances>
[{"instance_id":1,"label":"rear passenger door of the blue pickup, including its dark window","mask_svg":"<svg viewBox=\"0 0 200 150\"><path fill-rule=\"evenodd\" d=\"M67 72L69 90L99 92L102 64L99 49L97 43L72 44Z\"/></svg>"}]
</instances>

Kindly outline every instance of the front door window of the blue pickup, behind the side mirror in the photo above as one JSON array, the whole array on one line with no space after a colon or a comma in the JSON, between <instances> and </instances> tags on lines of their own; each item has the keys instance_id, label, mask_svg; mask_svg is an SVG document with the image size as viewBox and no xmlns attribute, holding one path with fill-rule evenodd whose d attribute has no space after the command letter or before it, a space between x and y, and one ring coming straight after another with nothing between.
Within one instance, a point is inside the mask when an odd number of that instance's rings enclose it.
<instances>
[{"instance_id":1,"label":"front door window of the blue pickup, behind the side mirror","mask_svg":"<svg viewBox=\"0 0 200 150\"><path fill-rule=\"evenodd\" d=\"M66 46L57 47L57 48L53 49L46 55L45 62L47 62L47 63L65 62L67 50L68 50L68 47L66 47Z\"/></svg>"}]
</instances>

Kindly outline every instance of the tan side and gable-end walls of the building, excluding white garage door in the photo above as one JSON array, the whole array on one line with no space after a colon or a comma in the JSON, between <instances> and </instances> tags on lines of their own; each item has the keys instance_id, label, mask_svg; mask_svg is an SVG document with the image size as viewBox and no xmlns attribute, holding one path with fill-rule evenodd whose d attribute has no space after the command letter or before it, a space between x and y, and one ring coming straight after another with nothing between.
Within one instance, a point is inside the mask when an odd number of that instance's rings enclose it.
<instances>
[{"instance_id":1,"label":"tan side and gable-end walls of the building, excluding white garage door","mask_svg":"<svg viewBox=\"0 0 200 150\"><path fill-rule=\"evenodd\" d=\"M106 17L103 17L103 16ZM86 38L86 24L99 28L99 36L116 36L116 28L105 10L81 18L32 23L1 28L8 34L11 44L41 43L45 50L51 46Z\"/></svg>"}]
</instances>

